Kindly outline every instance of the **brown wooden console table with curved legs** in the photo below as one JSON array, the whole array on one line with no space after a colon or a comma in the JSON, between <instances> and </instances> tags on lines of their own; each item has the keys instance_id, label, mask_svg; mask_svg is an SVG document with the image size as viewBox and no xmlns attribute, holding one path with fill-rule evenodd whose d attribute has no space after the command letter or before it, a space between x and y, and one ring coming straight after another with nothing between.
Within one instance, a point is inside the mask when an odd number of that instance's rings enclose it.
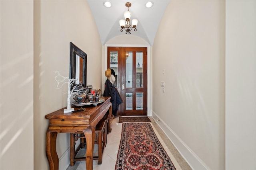
<instances>
[{"instance_id":1,"label":"brown wooden console table with curved legs","mask_svg":"<svg viewBox=\"0 0 256 170\"><path fill-rule=\"evenodd\" d=\"M63 111L65 108L62 108L45 116L46 119L49 119L49 126L46 132L46 156L50 170L58 170L59 168L59 158L56 152L57 134L76 133L78 131L84 132L86 137L86 169L93 170L92 154L94 149L95 127L107 111L112 114L111 97L101 98L105 100L102 104L86 107L84 111L64 114ZM108 131L110 132L110 121L108 121L108 123Z\"/></svg>"}]
</instances>

